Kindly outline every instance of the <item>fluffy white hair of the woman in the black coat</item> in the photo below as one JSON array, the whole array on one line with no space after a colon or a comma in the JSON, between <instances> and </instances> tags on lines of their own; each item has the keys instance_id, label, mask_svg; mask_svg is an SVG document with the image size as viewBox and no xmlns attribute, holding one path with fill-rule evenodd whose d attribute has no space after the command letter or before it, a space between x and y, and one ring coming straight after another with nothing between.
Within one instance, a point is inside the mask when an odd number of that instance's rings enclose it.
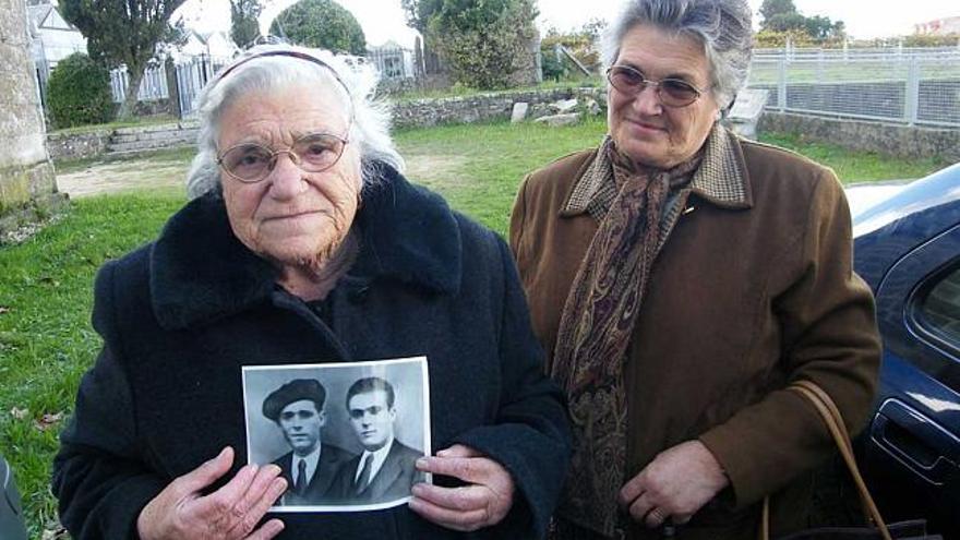
<instances>
[{"instance_id":1,"label":"fluffy white hair of the woman in the black coat","mask_svg":"<svg viewBox=\"0 0 960 540\"><path fill-rule=\"evenodd\" d=\"M284 51L289 51L290 56L284 55ZM262 56L268 52L273 55ZM304 59L303 55L316 61ZM384 165L403 171L404 158L397 153L389 135L389 109L373 98L377 74L371 65L355 60L321 49L262 45L251 48L225 67L221 75L214 77L200 93L197 153L187 177L190 199L211 191L219 192L217 140L224 110L239 97L252 92L277 91L295 85L331 86L338 88L344 96L344 105L352 109L347 111L353 118L348 136L350 144L359 145L364 184L375 181Z\"/></svg>"}]
</instances>

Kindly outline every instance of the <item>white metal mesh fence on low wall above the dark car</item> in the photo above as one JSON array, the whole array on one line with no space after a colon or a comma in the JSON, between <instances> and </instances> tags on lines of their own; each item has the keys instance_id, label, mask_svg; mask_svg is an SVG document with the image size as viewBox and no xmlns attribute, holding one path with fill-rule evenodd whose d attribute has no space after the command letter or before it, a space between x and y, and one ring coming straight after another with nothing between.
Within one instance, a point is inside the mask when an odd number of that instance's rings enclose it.
<instances>
[{"instance_id":1,"label":"white metal mesh fence on low wall above the dark car","mask_svg":"<svg viewBox=\"0 0 960 540\"><path fill-rule=\"evenodd\" d=\"M747 85L782 112L960 128L960 48L758 50Z\"/></svg>"}]
</instances>

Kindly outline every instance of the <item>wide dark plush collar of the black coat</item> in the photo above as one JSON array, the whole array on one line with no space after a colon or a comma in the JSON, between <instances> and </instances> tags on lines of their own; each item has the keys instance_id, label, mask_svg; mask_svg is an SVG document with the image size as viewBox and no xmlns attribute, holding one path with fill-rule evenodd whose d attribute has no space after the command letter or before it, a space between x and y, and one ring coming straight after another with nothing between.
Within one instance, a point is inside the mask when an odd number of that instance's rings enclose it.
<instances>
[{"instance_id":1,"label":"wide dark plush collar of the black coat","mask_svg":"<svg viewBox=\"0 0 960 540\"><path fill-rule=\"evenodd\" d=\"M440 293L460 286L460 233L439 195L386 166L362 193L361 235L344 283L393 279ZM151 250L153 310L167 329L205 324L266 301L276 271L233 236L223 197L207 193L167 221ZM339 287L339 285L338 285Z\"/></svg>"}]
</instances>

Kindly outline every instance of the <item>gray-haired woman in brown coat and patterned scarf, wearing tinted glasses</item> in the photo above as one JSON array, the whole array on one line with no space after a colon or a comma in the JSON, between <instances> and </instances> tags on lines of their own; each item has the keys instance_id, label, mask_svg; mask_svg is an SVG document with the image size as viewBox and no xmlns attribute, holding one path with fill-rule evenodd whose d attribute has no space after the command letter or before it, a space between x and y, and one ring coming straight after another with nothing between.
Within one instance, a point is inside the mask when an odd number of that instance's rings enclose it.
<instances>
[{"instance_id":1,"label":"gray-haired woman in brown coat and patterned scarf, wearing tinted glasses","mask_svg":"<svg viewBox=\"0 0 960 540\"><path fill-rule=\"evenodd\" d=\"M575 455L557 538L755 538L804 525L832 447L796 380L864 421L879 339L829 169L718 119L744 0L632 0L607 36L608 135L524 181L511 223Z\"/></svg>"}]
</instances>

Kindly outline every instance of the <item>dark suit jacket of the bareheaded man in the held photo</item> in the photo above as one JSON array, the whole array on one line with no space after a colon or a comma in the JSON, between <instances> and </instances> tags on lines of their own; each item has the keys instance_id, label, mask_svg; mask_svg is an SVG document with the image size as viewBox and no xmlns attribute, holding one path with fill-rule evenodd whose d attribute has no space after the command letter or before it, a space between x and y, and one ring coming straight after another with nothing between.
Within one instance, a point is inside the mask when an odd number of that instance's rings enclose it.
<instances>
[{"instance_id":1,"label":"dark suit jacket of the bareheaded man in the held photo","mask_svg":"<svg viewBox=\"0 0 960 540\"><path fill-rule=\"evenodd\" d=\"M422 452L394 439L380 470L359 493L355 478L363 454L355 456L344 465L337 478L341 501L350 504L374 504L410 496L410 488L424 479L423 473L415 467L421 456Z\"/></svg>"}]
</instances>

